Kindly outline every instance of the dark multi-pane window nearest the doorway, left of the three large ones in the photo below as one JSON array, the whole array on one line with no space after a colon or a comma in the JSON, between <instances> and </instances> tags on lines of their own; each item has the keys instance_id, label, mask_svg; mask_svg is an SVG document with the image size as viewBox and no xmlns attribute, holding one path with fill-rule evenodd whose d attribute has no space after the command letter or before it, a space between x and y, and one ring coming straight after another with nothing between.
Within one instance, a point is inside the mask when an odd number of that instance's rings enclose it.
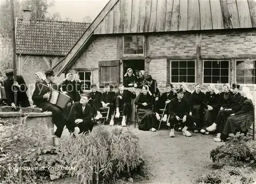
<instances>
[{"instance_id":1,"label":"dark multi-pane window nearest the doorway, left of the three large ones","mask_svg":"<svg viewBox=\"0 0 256 184\"><path fill-rule=\"evenodd\" d=\"M171 61L172 83L195 83L195 61Z\"/></svg>"}]
</instances>

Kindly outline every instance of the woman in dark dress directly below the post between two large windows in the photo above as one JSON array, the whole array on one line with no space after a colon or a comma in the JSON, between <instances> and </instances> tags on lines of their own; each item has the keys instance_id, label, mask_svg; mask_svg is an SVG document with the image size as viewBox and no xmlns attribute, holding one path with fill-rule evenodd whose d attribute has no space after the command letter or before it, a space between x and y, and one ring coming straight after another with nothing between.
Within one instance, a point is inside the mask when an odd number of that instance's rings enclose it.
<instances>
[{"instance_id":1,"label":"woman in dark dress directly below the post between two large windows","mask_svg":"<svg viewBox=\"0 0 256 184\"><path fill-rule=\"evenodd\" d=\"M194 117L194 122L197 124L198 128L202 128L203 126L203 101L205 98L205 94L201 91L201 85L195 85L195 91L190 95L188 108L189 115ZM194 130L194 133L197 133L197 130Z\"/></svg>"}]
</instances>

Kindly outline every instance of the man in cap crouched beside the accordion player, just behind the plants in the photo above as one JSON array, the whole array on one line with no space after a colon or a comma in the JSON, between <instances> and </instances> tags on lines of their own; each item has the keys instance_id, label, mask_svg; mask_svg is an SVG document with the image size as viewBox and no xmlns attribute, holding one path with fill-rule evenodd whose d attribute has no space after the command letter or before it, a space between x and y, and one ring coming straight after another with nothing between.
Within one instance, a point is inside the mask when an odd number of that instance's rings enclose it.
<instances>
[{"instance_id":1,"label":"man in cap crouched beside the accordion player, just behind the plants","mask_svg":"<svg viewBox=\"0 0 256 184\"><path fill-rule=\"evenodd\" d=\"M79 130L77 130L79 134L88 134L89 131L92 132L94 125L92 120L93 110L88 103L89 95L82 93L80 97L80 101L75 102L71 108L67 128L73 133L77 126L79 128Z\"/></svg>"}]
</instances>

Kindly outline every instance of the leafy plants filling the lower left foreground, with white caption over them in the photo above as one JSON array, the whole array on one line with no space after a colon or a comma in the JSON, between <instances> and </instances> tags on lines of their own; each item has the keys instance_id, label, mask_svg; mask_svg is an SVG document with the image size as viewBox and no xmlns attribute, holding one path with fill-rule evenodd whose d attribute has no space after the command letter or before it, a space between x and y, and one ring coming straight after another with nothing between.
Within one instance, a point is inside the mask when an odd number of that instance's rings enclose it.
<instances>
[{"instance_id":1,"label":"leafy plants filling the lower left foreground, with white caption over them","mask_svg":"<svg viewBox=\"0 0 256 184\"><path fill-rule=\"evenodd\" d=\"M93 134L68 137L53 147L44 141L47 128L35 131L25 122L23 118L20 124L2 122L5 125L0 126L0 183L44 183L70 176L81 183L111 183L145 176L138 137L129 131L109 132L99 126ZM49 169L53 167L66 169Z\"/></svg>"}]
</instances>

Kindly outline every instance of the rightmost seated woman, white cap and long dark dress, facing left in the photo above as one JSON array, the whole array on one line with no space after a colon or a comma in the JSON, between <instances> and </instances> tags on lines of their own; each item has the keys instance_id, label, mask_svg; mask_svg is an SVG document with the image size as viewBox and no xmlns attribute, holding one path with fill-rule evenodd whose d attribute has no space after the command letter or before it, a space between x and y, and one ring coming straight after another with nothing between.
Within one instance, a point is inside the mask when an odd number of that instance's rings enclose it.
<instances>
[{"instance_id":1,"label":"rightmost seated woman, white cap and long dark dress, facing left","mask_svg":"<svg viewBox=\"0 0 256 184\"><path fill-rule=\"evenodd\" d=\"M241 95L245 97L242 109L237 113L231 114L227 118L221 135L214 138L215 142L226 141L229 134L235 134L236 132L245 129L245 126L248 127L253 123L254 108L251 101L252 95L250 94L250 89L248 87L243 87Z\"/></svg>"}]
</instances>

